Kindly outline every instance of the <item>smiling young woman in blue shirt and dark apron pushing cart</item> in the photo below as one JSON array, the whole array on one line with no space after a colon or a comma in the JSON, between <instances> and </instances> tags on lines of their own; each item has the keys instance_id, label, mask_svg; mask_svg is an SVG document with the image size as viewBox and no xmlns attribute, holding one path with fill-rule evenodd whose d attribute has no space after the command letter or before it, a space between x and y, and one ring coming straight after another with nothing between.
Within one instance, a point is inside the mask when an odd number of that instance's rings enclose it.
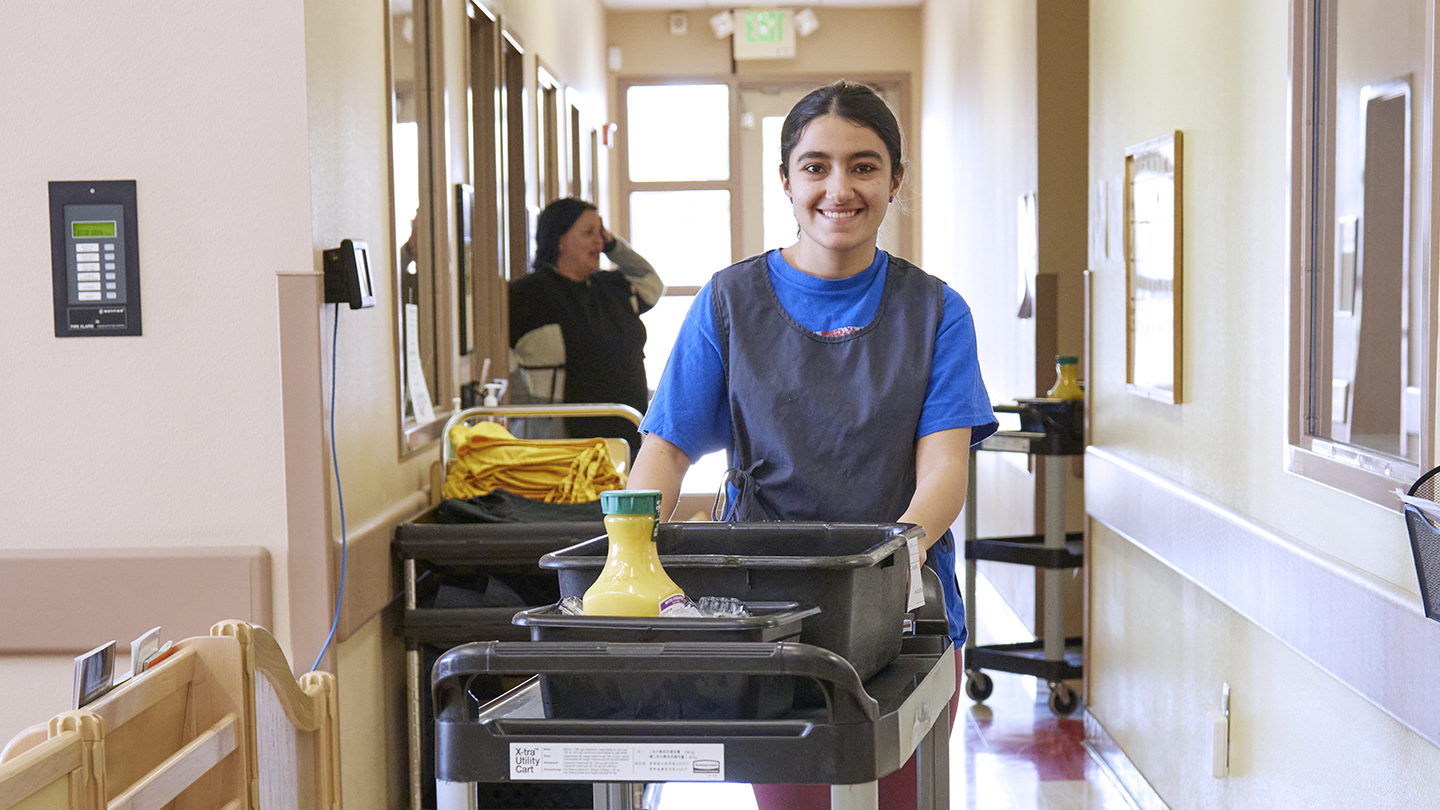
<instances>
[{"instance_id":1,"label":"smiling young woman in blue shirt and dark apron pushing cart","mask_svg":"<svg viewBox=\"0 0 1440 810\"><path fill-rule=\"evenodd\" d=\"M721 270L696 295L629 486L661 490L668 519L691 461L724 448L727 519L917 523L959 647L949 528L969 447L996 427L971 310L876 246L904 163L899 123L871 88L840 81L801 99L780 130L779 169L799 239ZM881 781L881 807L914 807L910 768ZM762 807L828 803L819 785L756 796Z\"/></svg>"}]
</instances>

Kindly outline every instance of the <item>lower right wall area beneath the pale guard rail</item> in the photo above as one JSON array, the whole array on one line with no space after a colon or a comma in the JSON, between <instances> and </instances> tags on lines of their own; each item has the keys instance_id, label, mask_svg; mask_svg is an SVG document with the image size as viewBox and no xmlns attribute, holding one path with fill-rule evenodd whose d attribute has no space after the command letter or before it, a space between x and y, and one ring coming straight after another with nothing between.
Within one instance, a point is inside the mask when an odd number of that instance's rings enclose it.
<instances>
[{"instance_id":1,"label":"lower right wall area beneath the pale guard rail","mask_svg":"<svg viewBox=\"0 0 1440 810\"><path fill-rule=\"evenodd\" d=\"M1313 662L1103 526L1092 568L1089 708L1171 810L1434 803L1440 751ZM1221 683L1217 780L1204 729Z\"/></svg>"}]
</instances>

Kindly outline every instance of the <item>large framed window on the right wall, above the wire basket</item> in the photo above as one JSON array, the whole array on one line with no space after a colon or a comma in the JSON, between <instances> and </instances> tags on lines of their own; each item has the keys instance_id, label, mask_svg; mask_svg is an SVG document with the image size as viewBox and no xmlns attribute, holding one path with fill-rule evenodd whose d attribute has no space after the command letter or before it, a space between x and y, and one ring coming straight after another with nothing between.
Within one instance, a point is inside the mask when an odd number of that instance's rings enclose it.
<instances>
[{"instance_id":1,"label":"large framed window on the right wall, above the wire basket","mask_svg":"<svg viewBox=\"0 0 1440 810\"><path fill-rule=\"evenodd\" d=\"M1289 468L1387 506L1434 464L1433 6L1295 3Z\"/></svg>"}]
</instances>

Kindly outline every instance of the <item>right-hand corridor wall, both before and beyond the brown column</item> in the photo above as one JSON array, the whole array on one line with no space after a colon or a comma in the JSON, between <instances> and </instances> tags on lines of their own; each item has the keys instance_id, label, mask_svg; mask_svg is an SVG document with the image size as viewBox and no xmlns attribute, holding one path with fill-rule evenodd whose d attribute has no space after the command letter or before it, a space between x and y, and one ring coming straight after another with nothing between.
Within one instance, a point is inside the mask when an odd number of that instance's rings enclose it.
<instances>
[{"instance_id":1,"label":"right-hand corridor wall, both before and beyond the brown column","mask_svg":"<svg viewBox=\"0 0 1440 810\"><path fill-rule=\"evenodd\" d=\"M1332 601L1374 610L1371 627L1387 611L1418 615L1404 525L1394 512L1283 467L1289 12L1284 0L1164 7L1090 0L1090 187L1119 192L1128 146L1185 133L1187 398L1161 405L1125 391L1120 229L1116 218L1097 216L1090 225L1107 229L1112 246L1087 262L1093 298L1083 376L1092 438L1162 483L1112 491L1104 487L1143 479L1110 471L1097 479L1104 491L1086 497L1119 513L1116 504L1171 491L1212 510L1210 529L1237 528L1224 546L1237 555L1227 565L1207 559L1205 546L1218 538L1164 520L1168 506L1151 515L1136 504L1148 517L1122 520L1155 536L1089 525L1090 711L1176 810L1404 807L1440 790L1440 751L1405 725L1424 712L1400 696L1423 690L1430 673L1397 651L1395 662L1411 669L1372 682L1333 675L1348 672L1349 651L1371 634L1345 637L1325 613ZM1015 199L1048 180L1032 157L1037 125L1045 130L1034 115L1045 104L1034 89L1035 32L1045 13L1045 0L924 9L927 270L945 274L975 308L996 401L1045 382L1027 376L1037 346L1012 319ZM1043 71L1044 61L1038 65ZM985 491L1025 476L982 454L982 536L1030 530L1027 503L989 507ZM1207 559L1204 569L1155 551L1176 543L1192 549L1191 559ZM1251 571L1261 558L1266 571ZM1234 600L1233 589L1250 582L1269 585ZM1336 592L1305 587L1312 584ZM1231 594L1217 597L1225 588ZM1282 594L1289 601L1276 604ZM1236 601L1244 610L1227 607ZM1420 620L1395 631L1427 644L1434 636L1427 630ZM1221 683L1233 687L1227 780L1202 765L1202 724L1220 706Z\"/></svg>"}]
</instances>

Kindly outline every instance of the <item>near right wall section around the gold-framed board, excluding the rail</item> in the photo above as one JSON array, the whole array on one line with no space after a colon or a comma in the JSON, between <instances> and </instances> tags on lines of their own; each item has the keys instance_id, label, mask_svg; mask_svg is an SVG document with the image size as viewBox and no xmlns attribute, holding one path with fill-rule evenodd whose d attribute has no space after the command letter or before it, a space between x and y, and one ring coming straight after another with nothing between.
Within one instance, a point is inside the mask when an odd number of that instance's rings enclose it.
<instances>
[{"instance_id":1,"label":"near right wall section around the gold-framed board, excluding the rail","mask_svg":"<svg viewBox=\"0 0 1440 810\"><path fill-rule=\"evenodd\" d=\"M1090 9L1092 183L1117 187L1130 144L1172 130L1185 138L1185 404L1126 393L1125 267L1117 252L1093 258L1094 444L1293 539L1293 568L1320 555L1326 566L1410 598L1416 579L1400 517L1283 468L1290 3L1092 0ZM1092 532L1092 712L1171 807L1431 801L1440 752L1374 696L1326 675L1326 656L1345 656L1359 638L1335 634L1306 660L1195 587L1189 571L1104 526ZM1240 577L1247 559L1233 565ZM1290 568L1267 578L1283 584ZM1326 637L1331 595L1295 595L1276 605L1289 627L1282 633ZM1218 708L1223 682L1234 689L1234 773L1225 781L1204 774L1200 748L1200 724Z\"/></svg>"}]
</instances>

